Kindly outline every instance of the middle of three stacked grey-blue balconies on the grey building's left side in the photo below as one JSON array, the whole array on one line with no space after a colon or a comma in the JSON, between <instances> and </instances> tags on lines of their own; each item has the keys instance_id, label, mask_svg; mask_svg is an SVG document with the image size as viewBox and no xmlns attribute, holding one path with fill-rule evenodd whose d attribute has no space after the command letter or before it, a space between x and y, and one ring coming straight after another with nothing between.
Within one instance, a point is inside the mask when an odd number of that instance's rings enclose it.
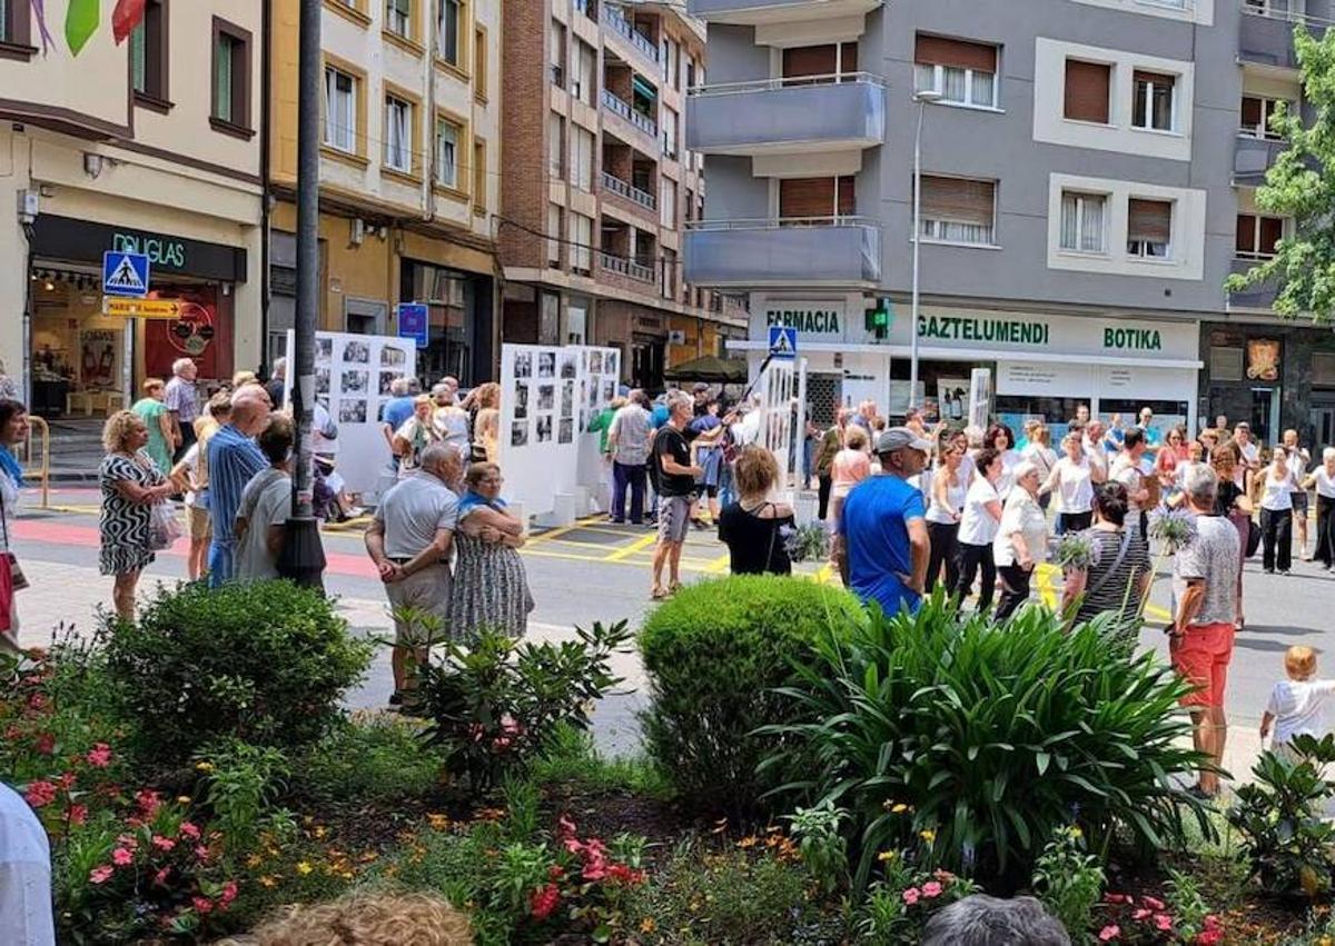
<instances>
[{"instance_id":1,"label":"middle of three stacked grey-blue balconies on the grey building's left side","mask_svg":"<svg viewBox=\"0 0 1335 946\"><path fill-rule=\"evenodd\" d=\"M686 147L706 155L873 148L885 84L866 72L705 85L686 101Z\"/></svg>"}]
</instances>

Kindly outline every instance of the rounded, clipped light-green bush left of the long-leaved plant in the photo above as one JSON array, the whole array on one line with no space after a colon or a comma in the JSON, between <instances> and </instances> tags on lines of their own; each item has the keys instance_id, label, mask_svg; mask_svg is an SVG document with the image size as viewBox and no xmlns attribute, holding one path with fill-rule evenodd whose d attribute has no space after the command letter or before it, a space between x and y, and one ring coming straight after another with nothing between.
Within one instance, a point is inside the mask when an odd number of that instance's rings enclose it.
<instances>
[{"instance_id":1,"label":"rounded, clipped light-green bush left of the long-leaved plant","mask_svg":"<svg viewBox=\"0 0 1335 946\"><path fill-rule=\"evenodd\" d=\"M797 578L738 575L702 582L653 611L639 632L651 703L642 715L650 757L696 805L753 810L778 783L756 769L778 741L756 735L793 707L773 692L812 642L865 622L846 591Z\"/></svg>"}]
</instances>

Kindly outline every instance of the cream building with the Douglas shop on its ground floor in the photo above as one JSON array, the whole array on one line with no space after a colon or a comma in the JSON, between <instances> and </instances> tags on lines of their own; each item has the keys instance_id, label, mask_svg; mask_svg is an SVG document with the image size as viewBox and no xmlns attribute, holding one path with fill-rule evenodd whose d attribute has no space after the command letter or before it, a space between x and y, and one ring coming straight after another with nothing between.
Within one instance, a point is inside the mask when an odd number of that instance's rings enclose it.
<instances>
[{"instance_id":1,"label":"cream building with the Douglas shop on its ground floor","mask_svg":"<svg viewBox=\"0 0 1335 946\"><path fill-rule=\"evenodd\" d=\"M55 15L51 4L47 12ZM35 411L128 404L188 355L204 379L260 355L258 0L148 0L76 48L0 4L0 358ZM104 312L101 262L138 251L172 319Z\"/></svg>"}]
</instances>

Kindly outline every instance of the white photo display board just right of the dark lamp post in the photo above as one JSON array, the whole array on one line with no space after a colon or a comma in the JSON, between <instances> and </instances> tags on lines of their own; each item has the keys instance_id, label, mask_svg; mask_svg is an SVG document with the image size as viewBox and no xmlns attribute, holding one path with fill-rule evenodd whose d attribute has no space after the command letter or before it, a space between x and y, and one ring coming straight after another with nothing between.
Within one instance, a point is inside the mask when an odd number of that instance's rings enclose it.
<instances>
[{"instance_id":1,"label":"white photo display board just right of the dark lamp post","mask_svg":"<svg viewBox=\"0 0 1335 946\"><path fill-rule=\"evenodd\" d=\"M287 383L291 400L296 334L287 332ZM384 486L390 444L380 430L380 408L392 396L395 378L417 376L413 339L390 335L315 332L315 399L338 424L338 471L348 492L372 500Z\"/></svg>"}]
</instances>

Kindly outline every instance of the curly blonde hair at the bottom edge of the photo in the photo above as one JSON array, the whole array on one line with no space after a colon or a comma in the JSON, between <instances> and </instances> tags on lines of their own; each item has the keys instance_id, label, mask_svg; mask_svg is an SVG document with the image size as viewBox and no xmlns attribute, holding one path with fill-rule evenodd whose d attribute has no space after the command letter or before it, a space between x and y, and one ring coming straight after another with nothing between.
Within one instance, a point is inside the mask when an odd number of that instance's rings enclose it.
<instances>
[{"instance_id":1,"label":"curly blonde hair at the bottom edge of the photo","mask_svg":"<svg viewBox=\"0 0 1335 946\"><path fill-rule=\"evenodd\" d=\"M427 894L352 895L290 907L255 930L259 946L471 946L469 918Z\"/></svg>"}]
</instances>

